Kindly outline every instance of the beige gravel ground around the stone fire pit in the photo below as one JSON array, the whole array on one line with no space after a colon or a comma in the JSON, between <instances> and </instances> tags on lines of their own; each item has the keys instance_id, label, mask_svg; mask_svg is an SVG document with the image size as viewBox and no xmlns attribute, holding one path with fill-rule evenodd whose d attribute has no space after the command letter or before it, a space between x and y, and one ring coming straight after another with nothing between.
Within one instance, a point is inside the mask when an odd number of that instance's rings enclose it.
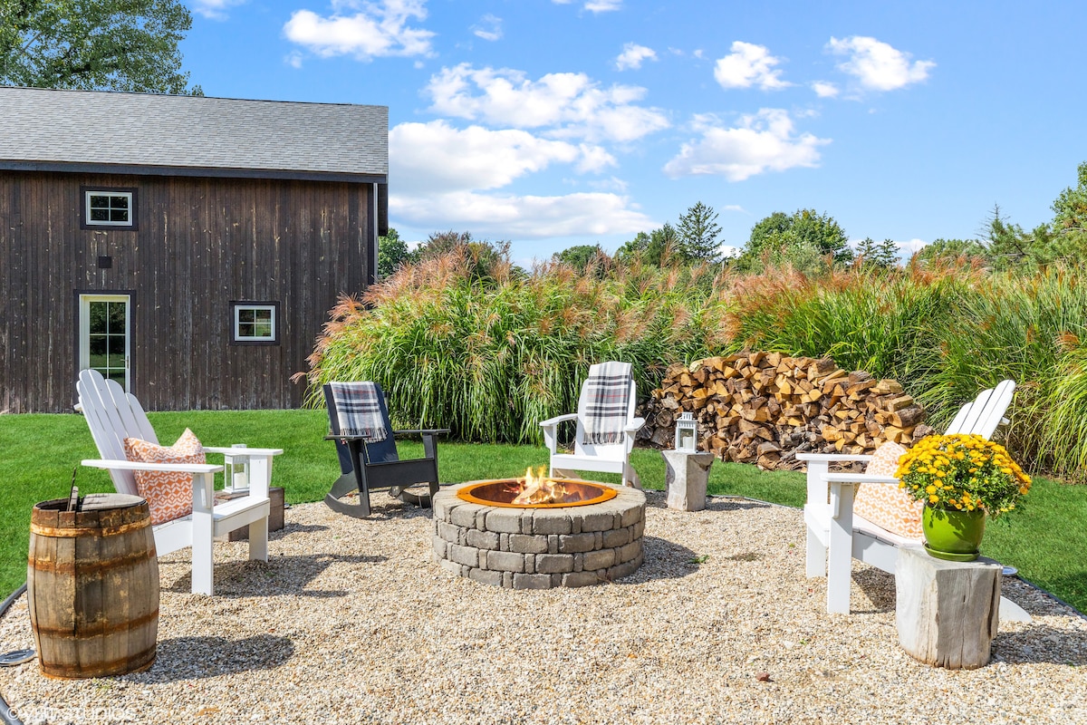
<instances>
[{"instance_id":1,"label":"beige gravel ground around the stone fire pit","mask_svg":"<svg viewBox=\"0 0 1087 725\"><path fill-rule=\"evenodd\" d=\"M1087 620L1005 578L1034 622L1002 623L979 670L923 665L898 646L891 576L854 562L853 613L826 613L794 509L649 492L635 575L514 591L445 573L428 512L374 502L366 521L293 507L266 565L217 543L212 598L189 593L187 550L163 557L148 672L32 662L0 668L0 693L27 725L1087 723ZM0 651L33 646L24 597Z\"/></svg>"}]
</instances>

